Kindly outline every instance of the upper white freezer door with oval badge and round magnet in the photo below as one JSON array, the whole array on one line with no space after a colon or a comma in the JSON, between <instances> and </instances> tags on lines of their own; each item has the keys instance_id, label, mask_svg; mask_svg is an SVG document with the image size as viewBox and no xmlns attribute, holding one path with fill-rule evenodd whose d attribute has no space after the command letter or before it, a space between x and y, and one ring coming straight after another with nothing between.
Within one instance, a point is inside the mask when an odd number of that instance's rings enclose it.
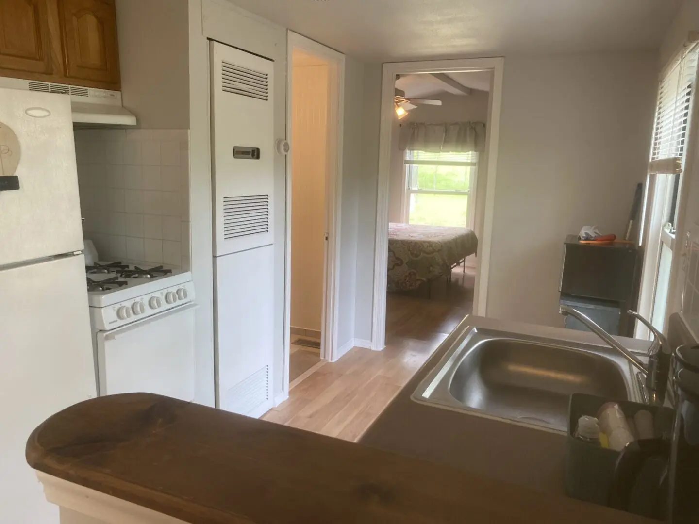
<instances>
[{"instance_id":1,"label":"upper white freezer door with oval badge and round magnet","mask_svg":"<svg viewBox=\"0 0 699 524\"><path fill-rule=\"evenodd\" d=\"M82 251L68 95L0 89L0 175L13 166L20 189L0 191L0 266Z\"/></svg>"}]
</instances>

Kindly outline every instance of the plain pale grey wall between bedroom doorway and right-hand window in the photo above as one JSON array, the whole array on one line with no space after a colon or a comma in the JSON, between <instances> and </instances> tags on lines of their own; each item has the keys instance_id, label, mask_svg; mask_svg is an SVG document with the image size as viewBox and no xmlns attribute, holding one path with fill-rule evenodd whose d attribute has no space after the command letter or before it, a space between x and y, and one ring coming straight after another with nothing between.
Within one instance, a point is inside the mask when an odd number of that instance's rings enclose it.
<instances>
[{"instance_id":1,"label":"plain pale grey wall between bedroom doorway and right-hand window","mask_svg":"<svg viewBox=\"0 0 699 524\"><path fill-rule=\"evenodd\" d=\"M562 325L565 235L624 233L647 173L657 59L505 59L488 316Z\"/></svg>"}]
</instances>

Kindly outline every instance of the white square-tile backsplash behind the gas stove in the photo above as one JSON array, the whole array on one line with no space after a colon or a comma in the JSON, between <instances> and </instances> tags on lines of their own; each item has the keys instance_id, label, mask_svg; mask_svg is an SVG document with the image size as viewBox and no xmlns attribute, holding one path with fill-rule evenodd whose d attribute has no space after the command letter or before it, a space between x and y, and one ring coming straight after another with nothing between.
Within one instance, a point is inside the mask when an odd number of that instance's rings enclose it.
<instances>
[{"instance_id":1,"label":"white square-tile backsplash behind the gas stove","mask_svg":"<svg viewBox=\"0 0 699 524\"><path fill-rule=\"evenodd\" d=\"M103 260L189 268L189 131L75 131L85 238Z\"/></svg>"}]
</instances>

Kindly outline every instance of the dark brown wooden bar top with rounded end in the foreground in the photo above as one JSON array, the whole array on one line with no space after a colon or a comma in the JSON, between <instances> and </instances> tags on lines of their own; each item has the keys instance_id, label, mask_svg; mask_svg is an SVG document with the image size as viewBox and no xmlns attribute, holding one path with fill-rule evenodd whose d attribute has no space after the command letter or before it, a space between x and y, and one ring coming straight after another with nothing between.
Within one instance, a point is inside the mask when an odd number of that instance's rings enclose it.
<instances>
[{"instance_id":1,"label":"dark brown wooden bar top with rounded end in the foreground","mask_svg":"<svg viewBox=\"0 0 699 524\"><path fill-rule=\"evenodd\" d=\"M196 524L654 522L145 393L55 414L29 437L27 462Z\"/></svg>"}]
</instances>

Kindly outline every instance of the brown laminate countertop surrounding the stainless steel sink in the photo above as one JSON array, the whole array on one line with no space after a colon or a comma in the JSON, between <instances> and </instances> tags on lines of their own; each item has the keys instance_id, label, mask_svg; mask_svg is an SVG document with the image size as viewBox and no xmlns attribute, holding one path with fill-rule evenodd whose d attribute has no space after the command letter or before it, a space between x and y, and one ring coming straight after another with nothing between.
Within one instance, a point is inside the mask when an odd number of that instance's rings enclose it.
<instances>
[{"instance_id":1,"label":"brown laminate countertop surrounding the stainless steel sink","mask_svg":"<svg viewBox=\"0 0 699 524\"><path fill-rule=\"evenodd\" d=\"M453 342L470 327L603 345L596 335L589 332L466 316L408 385L396 395L359 442L546 493L563 495L565 435L423 405L410 398ZM650 345L647 341L626 337L617 339L633 351L646 352Z\"/></svg>"}]
</instances>

